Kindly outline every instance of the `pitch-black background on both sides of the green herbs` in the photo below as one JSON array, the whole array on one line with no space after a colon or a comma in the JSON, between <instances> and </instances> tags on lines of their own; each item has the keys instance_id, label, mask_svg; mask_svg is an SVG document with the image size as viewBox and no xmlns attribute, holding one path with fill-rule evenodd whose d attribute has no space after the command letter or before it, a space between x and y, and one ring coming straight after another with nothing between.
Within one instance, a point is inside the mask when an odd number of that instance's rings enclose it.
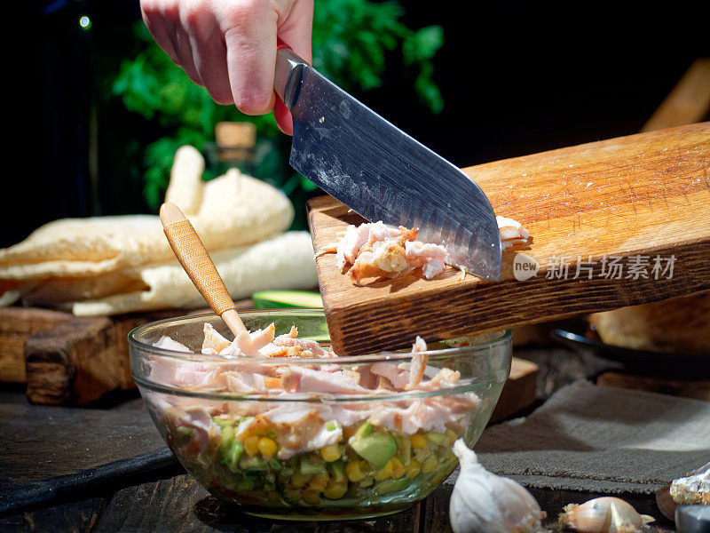
<instances>
[{"instance_id":1,"label":"pitch-black background on both sides of the green herbs","mask_svg":"<svg viewBox=\"0 0 710 533\"><path fill-rule=\"evenodd\" d=\"M326 0L316 9L319 1ZM422 107L411 76L391 61L384 86L362 99L459 166L635 133L692 60L710 56L706 2L401 4L409 27L444 27L435 58L444 111L431 115ZM130 161L140 161L141 147L161 130L98 99L106 68L135 53L129 28L140 17L138 0L7 8L12 134L4 143L0 247L51 219L147 212ZM76 23L83 13L91 16L90 32ZM112 129L130 132L130 142L109 142Z\"/></svg>"}]
</instances>

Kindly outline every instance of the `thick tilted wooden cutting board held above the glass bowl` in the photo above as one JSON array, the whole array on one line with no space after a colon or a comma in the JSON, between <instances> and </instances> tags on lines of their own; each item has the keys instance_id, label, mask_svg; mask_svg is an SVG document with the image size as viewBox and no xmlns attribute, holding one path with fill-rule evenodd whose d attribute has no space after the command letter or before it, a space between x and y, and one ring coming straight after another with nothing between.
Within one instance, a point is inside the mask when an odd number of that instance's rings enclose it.
<instances>
[{"instance_id":1,"label":"thick tilted wooden cutting board held above the glass bowl","mask_svg":"<svg viewBox=\"0 0 710 533\"><path fill-rule=\"evenodd\" d=\"M710 290L710 123L464 171L496 214L522 222L533 242L503 252L499 282L470 274L461 280L454 268L425 280L415 269L357 287L336 269L335 254L320 256L319 288L339 354L407 346L416 335L454 338ZM316 251L348 224L364 222L330 196L312 199L308 208ZM521 252L539 265L525 281L516 279L514 263L534 262ZM611 256L619 258L620 274ZM672 274L663 271L669 261Z\"/></svg>"}]
</instances>

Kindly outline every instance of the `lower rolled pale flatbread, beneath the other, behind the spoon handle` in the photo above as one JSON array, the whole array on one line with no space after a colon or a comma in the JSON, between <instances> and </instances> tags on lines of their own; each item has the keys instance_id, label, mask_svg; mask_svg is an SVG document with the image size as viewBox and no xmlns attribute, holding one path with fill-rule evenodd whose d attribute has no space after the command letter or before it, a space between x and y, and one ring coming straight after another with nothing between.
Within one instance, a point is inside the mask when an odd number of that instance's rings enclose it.
<instances>
[{"instance_id":1,"label":"lower rolled pale flatbread, beneath the other, behind the spoon handle","mask_svg":"<svg viewBox=\"0 0 710 533\"><path fill-rule=\"evenodd\" d=\"M233 299L247 298L256 290L311 289L318 283L311 235L288 232L261 243L212 255L217 271ZM121 314L166 307L192 309L205 300L177 260L125 272L146 290L115 294L71 304L77 316Z\"/></svg>"}]
</instances>

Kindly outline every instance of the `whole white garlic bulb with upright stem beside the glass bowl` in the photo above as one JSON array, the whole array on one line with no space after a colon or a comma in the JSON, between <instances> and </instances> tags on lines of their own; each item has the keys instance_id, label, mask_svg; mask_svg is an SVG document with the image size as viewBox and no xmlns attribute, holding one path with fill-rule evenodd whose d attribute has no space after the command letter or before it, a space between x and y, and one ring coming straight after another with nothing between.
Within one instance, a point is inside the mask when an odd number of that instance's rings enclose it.
<instances>
[{"instance_id":1,"label":"whole white garlic bulb with upright stem beside the glass bowl","mask_svg":"<svg viewBox=\"0 0 710 533\"><path fill-rule=\"evenodd\" d=\"M449 504L454 533L541 533L535 498L516 481L485 470L476 454L459 439L454 442L461 472Z\"/></svg>"}]
</instances>

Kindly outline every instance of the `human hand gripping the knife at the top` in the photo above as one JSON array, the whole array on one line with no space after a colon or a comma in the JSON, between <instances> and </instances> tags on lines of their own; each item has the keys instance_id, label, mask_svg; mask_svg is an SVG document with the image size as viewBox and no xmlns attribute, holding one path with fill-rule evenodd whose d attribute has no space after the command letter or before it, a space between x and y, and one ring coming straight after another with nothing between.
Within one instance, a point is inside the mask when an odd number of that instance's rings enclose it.
<instances>
[{"instance_id":1,"label":"human hand gripping the knife at the top","mask_svg":"<svg viewBox=\"0 0 710 533\"><path fill-rule=\"evenodd\" d=\"M156 43L217 103L247 115L273 109L293 134L273 92L276 37L311 62L313 0L140 0L140 9Z\"/></svg>"}]
</instances>

